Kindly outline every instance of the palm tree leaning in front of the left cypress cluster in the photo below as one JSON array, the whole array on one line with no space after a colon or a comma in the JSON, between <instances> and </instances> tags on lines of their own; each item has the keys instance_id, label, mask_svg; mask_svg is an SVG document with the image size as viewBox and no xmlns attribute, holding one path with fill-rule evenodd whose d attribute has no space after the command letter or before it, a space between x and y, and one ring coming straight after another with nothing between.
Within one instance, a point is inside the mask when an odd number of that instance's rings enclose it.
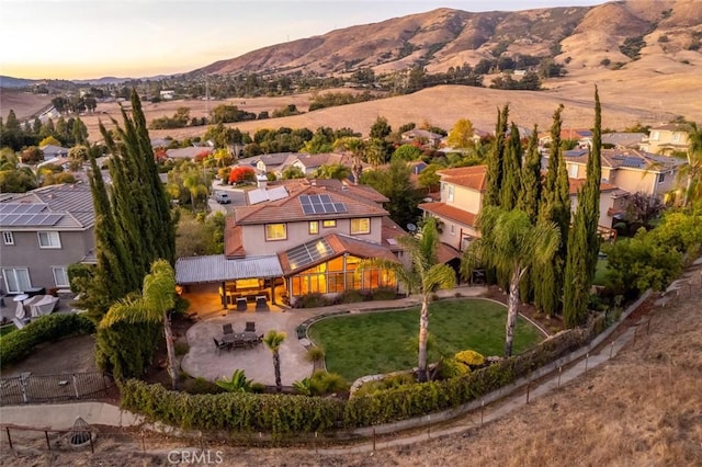
<instances>
[{"instance_id":1,"label":"palm tree leaning in front of the left cypress cluster","mask_svg":"<svg viewBox=\"0 0 702 467\"><path fill-rule=\"evenodd\" d=\"M176 274L166 260L156 260L151 271L144 277L141 296L123 298L113 304L100 321L101 328L110 328L116 322L131 324L138 322L162 322L166 349L168 352L168 373L173 389L178 389L178 368L176 348L169 311L176 306Z\"/></svg>"}]
</instances>

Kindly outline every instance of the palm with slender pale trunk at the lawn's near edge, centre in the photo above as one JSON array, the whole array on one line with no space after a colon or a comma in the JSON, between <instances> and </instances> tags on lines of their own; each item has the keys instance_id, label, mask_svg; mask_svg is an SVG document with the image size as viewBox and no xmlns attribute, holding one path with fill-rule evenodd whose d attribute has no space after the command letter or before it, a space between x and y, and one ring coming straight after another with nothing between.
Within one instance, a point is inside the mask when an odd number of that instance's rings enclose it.
<instances>
[{"instance_id":1,"label":"palm with slender pale trunk at the lawn's near edge, centre","mask_svg":"<svg viewBox=\"0 0 702 467\"><path fill-rule=\"evenodd\" d=\"M429 333L429 298L439 288L451 288L456 283L453 269L439 263L437 247L439 244L439 231L437 219L428 217L420 235L417 237L403 236L397 239L403 247L411 267L405 267L401 263L385 259L364 260L358 270L381 267L395 273L397 281L403 283L408 292L416 289L421 296L421 311L419 314L419 380L428 379L427 373L427 338Z\"/></svg>"}]
</instances>

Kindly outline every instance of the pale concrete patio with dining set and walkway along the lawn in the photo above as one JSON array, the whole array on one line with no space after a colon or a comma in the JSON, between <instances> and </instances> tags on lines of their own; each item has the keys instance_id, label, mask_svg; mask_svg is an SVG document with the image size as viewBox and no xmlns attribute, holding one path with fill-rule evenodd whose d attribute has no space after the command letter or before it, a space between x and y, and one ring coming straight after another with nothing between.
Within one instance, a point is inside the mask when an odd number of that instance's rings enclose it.
<instances>
[{"instance_id":1,"label":"pale concrete patio with dining set and walkway along the lawn","mask_svg":"<svg viewBox=\"0 0 702 467\"><path fill-rule=\"evenodd\" d=\"M438 295L454 297L460 293L463 297L477 297L485 292L485 287L463 286L439 291ZM190 351L183 357L181 368L192 377L203 377L207 380L215 380L223 376L229 378L235 369L242 369L249 379L267 386L275 385L271 351L261 343L252 349L231 349L219 352L213 338L222 339L223 324L231 323L235 332L240 332L247 321L253 321L258 334L265 334L270 330L285 332L287 337L280 350L281 378L284 386L291 386L294 381L309 377L313 373L313 364L305 360L307 353L303 345L305 341L298 340L296 332L296 328L306 319L330 311L405 308L419 303L417 296L410 296L397 300L362 301L324 308L290 309L271 306L270 311L254 311L251 308L247 311L236 311L224 310L217 294L184 294L183 297L190 300L189 311L196 312L201 321L188 330Z\"/></svg>"}]
</instances>

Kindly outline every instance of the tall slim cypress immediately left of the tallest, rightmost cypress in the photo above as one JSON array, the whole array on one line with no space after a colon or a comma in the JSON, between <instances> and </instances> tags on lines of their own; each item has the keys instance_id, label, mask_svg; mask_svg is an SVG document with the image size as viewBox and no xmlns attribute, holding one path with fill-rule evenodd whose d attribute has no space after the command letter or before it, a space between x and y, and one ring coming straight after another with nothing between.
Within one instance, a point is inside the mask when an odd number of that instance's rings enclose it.
<instances>
[{"instance_id":1,"label":"tall slim cypress immediately left of the tallest, rightmost cypress","mask_svg":"<svg viewBox=\"0 0 702 467\"><path fill-rule=\"evenodd\" d=\"M536 308L551 316L558 311L563 297L563 274L568 251L568 228L570 225L568 171L563 157L563 148L561 147L562 112L563 105L559 105L553 115L548 172L546 173L546 182L539 207L540 219L555 223L558 227L559 247L553 264L534 269L533 281Z\"/></svg>"}]
</instances>

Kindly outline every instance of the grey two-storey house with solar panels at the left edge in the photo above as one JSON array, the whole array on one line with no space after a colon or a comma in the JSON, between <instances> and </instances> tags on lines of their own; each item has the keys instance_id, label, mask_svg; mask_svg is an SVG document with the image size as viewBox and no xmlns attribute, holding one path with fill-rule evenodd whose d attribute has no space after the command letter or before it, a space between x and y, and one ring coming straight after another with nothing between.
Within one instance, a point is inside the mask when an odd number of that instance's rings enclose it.
<instances>
[{"instance_id":1,"label":"grey two-storey house with solar panels at the left edge","mask_svg":"<svg viewBox=\"0 0 702 467\"><path fill-rule=\"evenodd\" d=\"M0 202L2 288L68 288L69 264L94 262L90 186L52 185L9 194Z\"/></svg>"}]
</instances>

